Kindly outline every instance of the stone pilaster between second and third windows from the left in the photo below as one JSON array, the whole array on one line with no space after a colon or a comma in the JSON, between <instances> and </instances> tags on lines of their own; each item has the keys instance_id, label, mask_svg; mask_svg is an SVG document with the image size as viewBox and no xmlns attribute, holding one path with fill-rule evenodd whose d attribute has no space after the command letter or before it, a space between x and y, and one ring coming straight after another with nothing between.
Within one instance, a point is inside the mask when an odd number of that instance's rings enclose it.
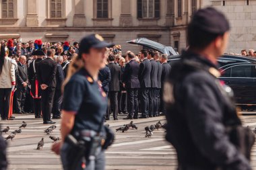
<instances>
[{"instance_id":1,"label":"stone pilaster between second and third windows from the left","mask_svg":"<svg viewBox=\"0 0 256 170\"><path fill-rule=\"evenodd\" d=\"M84 0L73 0L75 3L75 15L73 17L74 27L85 27L86 26L86 15L84 14Z\"/></svg>"}]
</instances>

